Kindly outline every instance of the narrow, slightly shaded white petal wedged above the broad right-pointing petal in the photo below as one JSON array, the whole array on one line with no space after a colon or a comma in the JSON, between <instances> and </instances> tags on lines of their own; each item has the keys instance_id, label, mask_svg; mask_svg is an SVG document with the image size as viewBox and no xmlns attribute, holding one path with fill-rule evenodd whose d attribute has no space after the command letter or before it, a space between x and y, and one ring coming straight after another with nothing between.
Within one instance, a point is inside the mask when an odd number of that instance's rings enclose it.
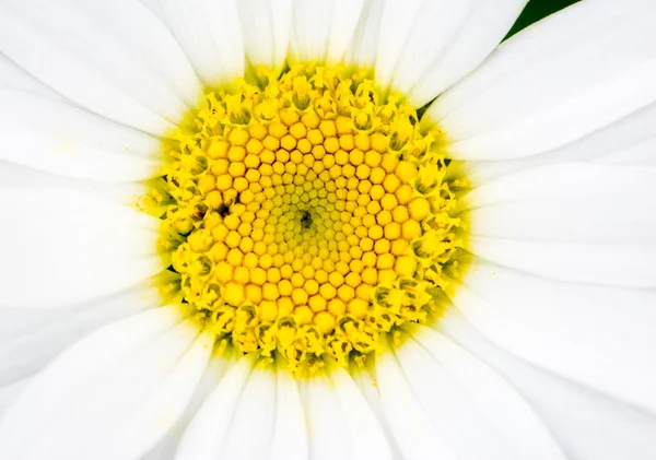
<instances>
[{"instance_id":1,"label":"narrow, slightly shaded white petal wedged above the broad right-pointing petal","mask_svg":"<svg viewBox=\"0 0 656 460\"><path fill-rule=\"evenodd\" d=\"M468 162L467 178L481 185L507 174L559 163L656 166L656 104L552 151L503 162Z\"/></svg>"}]
</instances>

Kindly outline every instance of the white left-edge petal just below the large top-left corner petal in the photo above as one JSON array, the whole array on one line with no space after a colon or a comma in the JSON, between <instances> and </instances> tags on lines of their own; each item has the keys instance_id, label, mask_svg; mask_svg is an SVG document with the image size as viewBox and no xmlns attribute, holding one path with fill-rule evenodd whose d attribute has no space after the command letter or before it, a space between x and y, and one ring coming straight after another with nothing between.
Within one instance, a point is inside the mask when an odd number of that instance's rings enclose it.
<instances>
[{"instance_id":1,"label":"white left-edge petal just below the large top-left corner petal","mask_svg":"<svg viewBox=\"0 0 656 460\"><path fill-rule=\"evenodd\" d=\"M0 158L92 180L148 179L163 166L161 141L65 102L4 89Z\"/></svg>"}]
</instances>

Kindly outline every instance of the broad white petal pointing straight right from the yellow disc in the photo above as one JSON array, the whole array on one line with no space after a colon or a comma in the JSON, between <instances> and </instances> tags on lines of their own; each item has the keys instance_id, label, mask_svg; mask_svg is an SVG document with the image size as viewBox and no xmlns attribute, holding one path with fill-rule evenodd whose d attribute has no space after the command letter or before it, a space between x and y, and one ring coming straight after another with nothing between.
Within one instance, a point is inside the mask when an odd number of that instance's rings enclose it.
<instances>
[{"instance_id":1,"label":"broad white petal pointing straight right from the yellow disc","mask_svg":"<svg viewBox=\"0 0 656 460\"><path fill-rule=\"evenodd\" d=\"M655 286L656 169L565 164L473 190L469 250L555 280ZM499 210L499 215L495 213Z\"/></svg>"}]
</instances>

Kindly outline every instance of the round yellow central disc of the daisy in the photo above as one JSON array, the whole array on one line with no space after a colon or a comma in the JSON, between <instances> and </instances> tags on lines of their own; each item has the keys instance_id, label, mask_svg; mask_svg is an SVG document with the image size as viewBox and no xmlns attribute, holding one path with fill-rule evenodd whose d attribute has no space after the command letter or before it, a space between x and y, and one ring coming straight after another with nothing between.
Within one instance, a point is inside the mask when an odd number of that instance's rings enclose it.
<instances>
[{"instance_id":1,"label":"round yellow central disc of the daisy","mask_svg":"<svg viewBox=\"0 0 656 460\"><path fill-rule=\"evenodd\" d=\"M362 364L440 314L458 180L402 98L305 64L208 91L191 118L149 197L180 302L224 345Z\"/></svg>"}]
</instances>

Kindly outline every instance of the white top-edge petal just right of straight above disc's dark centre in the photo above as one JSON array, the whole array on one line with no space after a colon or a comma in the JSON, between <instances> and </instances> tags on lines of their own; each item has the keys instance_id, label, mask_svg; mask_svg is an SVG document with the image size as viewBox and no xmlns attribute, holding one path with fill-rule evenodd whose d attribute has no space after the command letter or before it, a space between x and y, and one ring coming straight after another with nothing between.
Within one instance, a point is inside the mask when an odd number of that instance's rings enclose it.
<instances>
[{"instance_id":1,"label":"white top-edge petal just right of straight above disc's dark centre","mask_svg":"<svg viewBox=\"0 0 656 460\"><path fill-rule=\"evenodd\" d=\"M353 37L364 0L295 0L291 57L295 61L339 62Z\"/></svg>"}]
</instances>

